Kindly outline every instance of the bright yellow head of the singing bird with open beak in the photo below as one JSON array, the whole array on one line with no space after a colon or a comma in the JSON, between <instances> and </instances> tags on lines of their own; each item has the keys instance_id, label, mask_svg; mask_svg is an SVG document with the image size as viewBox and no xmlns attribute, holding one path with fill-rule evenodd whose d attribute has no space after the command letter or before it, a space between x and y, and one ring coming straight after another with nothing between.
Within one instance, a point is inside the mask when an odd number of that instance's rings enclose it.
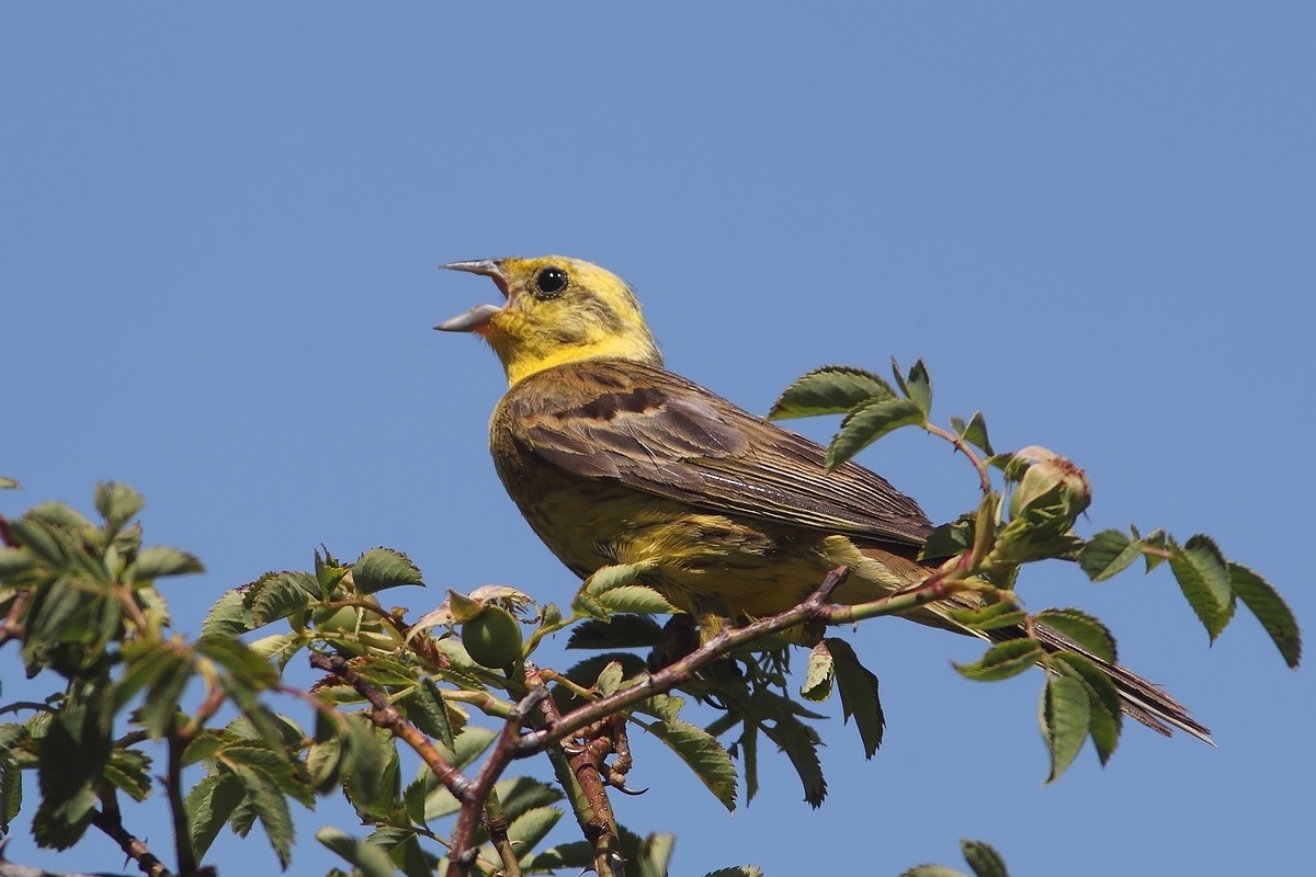
<instances>
[{"instance_id":1,"label":"bright yellow head of the singing bird with open beak","mask_svg":"<svg viewBox=\"0 0 1316 877\"><path fill-rule=\"evenodd\" d=\"M621 277L566 256L482 259L443 266L492 277L507 304L476 305L434 329L474 331L503 360L509 384L583 359L662 366L640 301Z\"/></svg>"}]
</instances>

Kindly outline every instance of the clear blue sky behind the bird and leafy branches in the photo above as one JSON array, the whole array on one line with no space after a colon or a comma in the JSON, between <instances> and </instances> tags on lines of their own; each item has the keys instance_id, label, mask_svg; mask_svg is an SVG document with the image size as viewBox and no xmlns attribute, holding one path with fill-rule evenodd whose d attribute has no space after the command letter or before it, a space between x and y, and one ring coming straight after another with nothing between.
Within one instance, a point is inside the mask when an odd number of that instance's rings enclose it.
<instances>
[{"instance_id":1,"label":"clear blue sky behind the bird and leafy branches","mask_svg":"<svg viewBox=\"0 0 1316 877\"><path fill-rule=\"evenodd\" d=\"M1092 529L1205 531L1316 622L1307 548L1316 8L1263 4L0 4L0 510L97 480L147 497L195 632L224 589L388 544L446 586L574 581L504 497L495 358L436 322L496 291L434 270L562 252L641 295L669 367L750 410L822 363L923 358L937 410L1087 468ZM803 429L825 437L830 425ZM942 446L861 458L934 519ZM1300 873L1316 686L1241 617L1211 648L1173 580L1063 565L1030 606L1105 619L1219 748L1129 727L1041 786L1040 678L976 647L850 636L882 677L871 763L838 710L820 811L784 759L728 818L641 742L672 873L896 874L994 843L1016 877ZM561 660L566 660L565 657ZM4 696L26 692L14 651ZM167 849L167 828L133 826ZM299 819L293 873L334 859ZM105 840L12 859L118 869ZM216 844L272 873L263 839Z\"/></svg>"}]
</instances>

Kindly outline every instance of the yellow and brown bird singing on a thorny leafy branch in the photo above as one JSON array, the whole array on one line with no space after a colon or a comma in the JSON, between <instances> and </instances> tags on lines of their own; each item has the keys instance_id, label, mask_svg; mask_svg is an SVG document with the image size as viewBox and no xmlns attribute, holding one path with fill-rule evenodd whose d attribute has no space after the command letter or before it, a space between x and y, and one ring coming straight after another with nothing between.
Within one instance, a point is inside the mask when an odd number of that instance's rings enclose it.
<instances>
[{"instance_id":1,"label":"yellow and brown bird singing on a thorny leafy branch","mask_svg":"<svg viewBox=\"0 0 1316 877\"><path fill-rule=\"evenodd\" d=\"M565 256L443 267L491 277L507 298L436 329L475 333L503 362L509 389L490 422L494 463L530 527L578 576L634 564L712 635L790 609L841 564L850 568L834 593L844 604L929 575L919 551L933 527L913 500L854 463L826 472L817 443L666 371L616 275ZM949 609L929 604L907 617L983 635ZM1083 651L1042 626L1034 635ZM1126 714L1209 740L1163 690L1095 660Z\"/></svg>"}]
</instances>

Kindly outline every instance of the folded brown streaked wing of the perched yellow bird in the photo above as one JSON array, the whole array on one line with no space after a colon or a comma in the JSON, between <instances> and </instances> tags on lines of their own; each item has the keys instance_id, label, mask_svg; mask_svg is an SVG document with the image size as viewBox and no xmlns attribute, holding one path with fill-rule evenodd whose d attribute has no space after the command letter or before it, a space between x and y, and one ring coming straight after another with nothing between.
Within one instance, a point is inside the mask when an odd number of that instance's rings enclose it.
<instances>
[{"instance_id":1,"label":"folded brown streaked wing of the perched yellow bird","mask_svg":"<svg viewBox=\"0 0 1316 877\"><path fill-rule=\"evenodd\" d=\"M824 469L817 443L661 368L592 360L546 369L496 417L522 454L712 511L923 544L919 505L861 465Z\"/></svg>"}]
</instances>

